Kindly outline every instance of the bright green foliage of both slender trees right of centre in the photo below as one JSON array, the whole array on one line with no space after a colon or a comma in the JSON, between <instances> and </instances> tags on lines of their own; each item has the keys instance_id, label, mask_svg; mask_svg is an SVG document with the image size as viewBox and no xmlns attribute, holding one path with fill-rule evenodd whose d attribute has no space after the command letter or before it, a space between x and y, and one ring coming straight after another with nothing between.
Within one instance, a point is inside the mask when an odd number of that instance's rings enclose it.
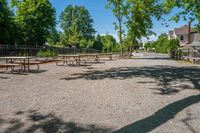
<instances>
[{"instance_id":1,"label":"bright green foliage of both slender trees right of centre","mask_svg":"<svg viewBox=\"0 0 200 133\"><path fill-rule=\"evenodd\" d=\"M151 31L153 27L152 18L160 19L162 7L160 0L108 0L108 7L113 11L118 20L116 29L118 29L120 44L130 53L132 49L140 47L138 42L142 37L155 34ZM116 23L115 23L116 24ZM122 43L122 26L126 26L127 34Z\"/></svg>"}]
</instances>

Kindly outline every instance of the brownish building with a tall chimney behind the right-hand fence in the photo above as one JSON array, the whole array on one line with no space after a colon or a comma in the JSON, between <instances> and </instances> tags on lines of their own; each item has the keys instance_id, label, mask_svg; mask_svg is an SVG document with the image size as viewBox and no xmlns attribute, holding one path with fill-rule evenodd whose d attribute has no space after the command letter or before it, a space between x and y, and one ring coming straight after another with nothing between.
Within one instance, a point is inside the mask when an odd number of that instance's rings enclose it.
<instances>
[{"instance_id":1,"label":"brownish building with a tall chimney behind the right-hand fence","mask_svg":"<svg viewBox=\"0 0 200 133\"><path fill-rule=\"evenodd\" d=\"M200 34L196 29L191 28L191 23L180 28L169 31L169 39L179 39L181 45L189 45L200 41Z\"/></svg>"}]
</instances>

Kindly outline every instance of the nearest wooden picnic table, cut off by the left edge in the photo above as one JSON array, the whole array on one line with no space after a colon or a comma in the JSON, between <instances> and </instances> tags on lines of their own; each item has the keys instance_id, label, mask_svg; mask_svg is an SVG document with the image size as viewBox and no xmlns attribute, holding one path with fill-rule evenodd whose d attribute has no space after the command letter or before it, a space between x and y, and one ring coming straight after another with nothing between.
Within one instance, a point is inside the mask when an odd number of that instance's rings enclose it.
<instances>
[{"instance_id":1,"label":"nearest wooden picnic table, cut off by the left edge","mask_svg":"<svg viewBox=\"0 0 200 133\"><path fill-rule=\"evenodd\" d=\"M29 57L29 56L7 56L7 57L0 57L0 59L6 60L6 64L20 64L23 66L23 70L25 72L26 68L28 69L28 71L30 72L30 65L37 65L38 68L37 70L39 70L39 63L37 62L30 62L30 59L32 59L33 57Z\"/></svg>"}]
</instances>

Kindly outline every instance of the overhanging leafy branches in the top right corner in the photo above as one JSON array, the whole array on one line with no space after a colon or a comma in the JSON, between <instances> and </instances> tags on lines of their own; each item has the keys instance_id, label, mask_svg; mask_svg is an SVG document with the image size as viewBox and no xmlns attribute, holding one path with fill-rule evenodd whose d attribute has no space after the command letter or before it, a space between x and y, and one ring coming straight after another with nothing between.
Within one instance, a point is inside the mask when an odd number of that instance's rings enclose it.
<instances>
[{"instance_id":1,"label":"overhanging leafy branches in the top right corner","mask_svg":"<svg viewBox=\"0 0 200 133\"><path fill-rule=\"evenodd\" d=\"M178 7L182 10L179 10L178 13L175 14L171 18L171 20L175 20L178 22L182 17L184 20L194 21L197 20L198 24L196 25L200 32L200 1L199 0L165 0L164 1L164 9L165 13L170 13L170 11Z\"/></svg>"}]
</instances>

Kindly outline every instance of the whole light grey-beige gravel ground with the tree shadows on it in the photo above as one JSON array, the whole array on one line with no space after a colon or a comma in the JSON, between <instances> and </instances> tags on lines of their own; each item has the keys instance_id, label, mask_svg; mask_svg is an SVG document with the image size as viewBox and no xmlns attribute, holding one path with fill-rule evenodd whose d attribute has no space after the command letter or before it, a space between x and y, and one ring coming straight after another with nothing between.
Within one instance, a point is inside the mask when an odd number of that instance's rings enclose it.
<instances>
[{"instance_id":1,"label":"whole light grey-beige gravel ground with the tree shadows on it","mask_svg":"<svg viewBox=\"0 0 200 133\"><path fill-rule=\"evenodd\" d=\"M0 132L197 133L200 67L164 55L0 73Z\"/></svg>"}]
</instances>

